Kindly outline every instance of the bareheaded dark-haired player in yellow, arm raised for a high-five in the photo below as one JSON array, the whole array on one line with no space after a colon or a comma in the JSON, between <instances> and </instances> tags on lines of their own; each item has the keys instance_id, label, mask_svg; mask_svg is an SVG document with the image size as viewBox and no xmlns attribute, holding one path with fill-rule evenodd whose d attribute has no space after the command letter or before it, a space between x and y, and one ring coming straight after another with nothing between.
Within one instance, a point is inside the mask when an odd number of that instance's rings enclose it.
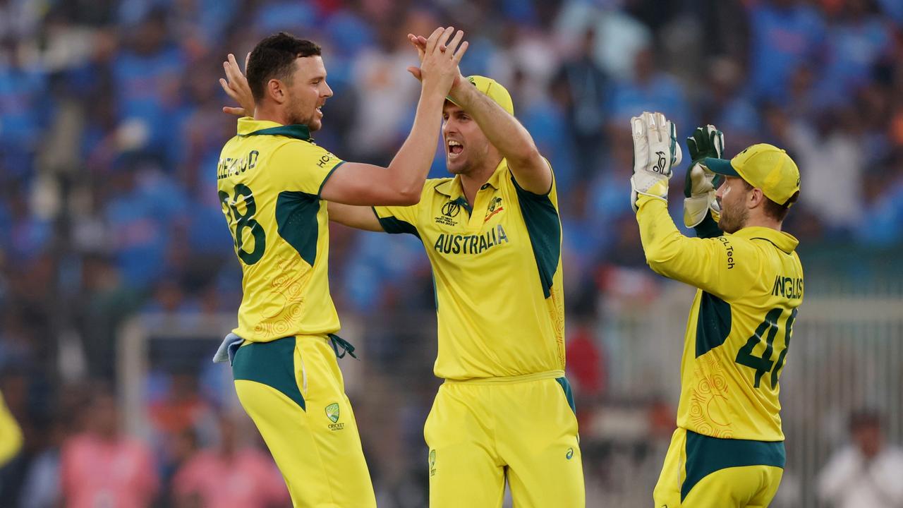
<instances>
[{"instance_id":1,"label":"bareheaded dark-haired player in yellow, arm raised for a high-five","mask_svg":"<svg viewBox=\"0 0 903 508\"><path fill-rule=\"evenodd\" d=\"M345 163L313 143L332 95L317 44L278 33L248 57L245 85L254 117L238 120L217 168L244 294L237 328L215 361L232 361L238 400L296 507L376 506L336 362L354 348L335 335L325 200L411 205L420 199L442 105L467 50L463 33L451 39L453 32L436 29L426 44L416 70L424 79L414 126L388 167Z\"/></svg>"}]
</instances>

